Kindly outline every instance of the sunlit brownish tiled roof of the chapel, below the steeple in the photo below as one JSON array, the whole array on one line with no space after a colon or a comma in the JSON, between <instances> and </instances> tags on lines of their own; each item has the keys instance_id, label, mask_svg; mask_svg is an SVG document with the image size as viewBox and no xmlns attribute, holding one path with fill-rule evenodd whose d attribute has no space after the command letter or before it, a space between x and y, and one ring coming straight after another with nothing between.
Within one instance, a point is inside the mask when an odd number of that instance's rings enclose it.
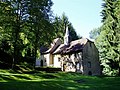
<instances>
[{"instance_id":1,"label":"sunlit brownish tiled roof of the chapel, below the steeple","mask_svg":"<svg viewBox=\"0 0 120 90\"><path fill-rule=\"evenodd\" d=\"M57 43L58 39L54 39L53 43ZM75 41L71 41L69 45L65 44L59 44L56 48L53 48L55 46L52 45L50 49L48 49L45 53L51 53L51 54L67 54L67 53L74 53L78 51L82 51L86 43L90 41L87 38L78 39Z\"/></svg>"}]
</instances>

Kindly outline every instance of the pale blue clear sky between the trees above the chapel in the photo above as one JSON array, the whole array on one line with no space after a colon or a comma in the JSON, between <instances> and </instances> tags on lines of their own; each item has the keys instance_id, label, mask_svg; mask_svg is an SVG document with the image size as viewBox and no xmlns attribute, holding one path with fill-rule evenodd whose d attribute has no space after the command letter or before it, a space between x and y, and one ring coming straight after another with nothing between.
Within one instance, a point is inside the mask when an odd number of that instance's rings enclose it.
<instances>
[{"instance_id":1,"label":"pale blue clear sky between the trees above the chapel","mask_svg":"<svg viewBox=\"0 0 120 90\"><path fill-rule=\"evenodd\" d=\"M89 38L89 32L102 25L102 0L52 0L54 15L68 17L78 35Z\"/></svg>"}]
</instances>

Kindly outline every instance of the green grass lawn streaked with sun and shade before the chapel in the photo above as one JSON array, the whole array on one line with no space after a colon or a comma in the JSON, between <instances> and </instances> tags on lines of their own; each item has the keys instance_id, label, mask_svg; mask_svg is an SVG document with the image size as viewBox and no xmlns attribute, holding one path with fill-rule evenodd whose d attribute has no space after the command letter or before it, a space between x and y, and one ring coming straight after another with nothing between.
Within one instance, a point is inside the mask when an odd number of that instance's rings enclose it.
<instances>
[{"instance_id":1,"label":"green grass lawn streaked with sun and shade before the chapel","mask_svg":"<svg viewBox=\"0 0 120 90\"><path fill-rule=\"evenodd\" d=\"M0 90L120 90L120 77L0 70Z\"/></svg>"}]
</instances>

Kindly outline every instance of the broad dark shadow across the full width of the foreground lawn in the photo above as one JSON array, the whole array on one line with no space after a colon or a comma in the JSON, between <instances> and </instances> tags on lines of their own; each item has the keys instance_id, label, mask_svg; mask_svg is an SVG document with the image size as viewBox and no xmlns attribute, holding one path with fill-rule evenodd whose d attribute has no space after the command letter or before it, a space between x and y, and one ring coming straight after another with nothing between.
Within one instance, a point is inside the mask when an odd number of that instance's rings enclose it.
<instances>
[{"instance_id":1,"label":"broad dark shadow across the full width of the foreground lawn","mask_svg":"<svg viewBox=\"0 0 120 90\"><path fill-rule=\"evenodd\" d=\"M119 81L120 82L120 81ZM82 82L46 79L44 81L0 82L0 90L119 90L118 82Z\"/></svg>"}]
</instances>

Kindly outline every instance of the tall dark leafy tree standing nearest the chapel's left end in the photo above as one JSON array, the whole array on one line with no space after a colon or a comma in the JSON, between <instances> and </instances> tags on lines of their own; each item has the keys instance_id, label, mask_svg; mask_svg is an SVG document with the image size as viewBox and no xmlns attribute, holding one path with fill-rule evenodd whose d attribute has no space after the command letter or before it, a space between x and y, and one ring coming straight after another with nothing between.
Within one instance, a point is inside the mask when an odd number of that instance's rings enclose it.
<instances>
[{"instance_id":1,"label":"tall dark leafy tree standing nearest the chapel's left end","mask_svg":"<svg viewBox=\"0 0 120 90\"><path fill-rule=\"evenodd\" d=\"M49 37L50 27L49 16L51 14L51 0L30 0L31 5L28 6L29 20L31 23L31 32L33 33L34 40L34 57L36 60L37 50L39 50L41 43L44 44L44 38ZM44 36L46 34L46 36ZM42 40L43 39L43 40ZM35 63L35 62L34 62Z\"/></svg>"}]
</instances>

